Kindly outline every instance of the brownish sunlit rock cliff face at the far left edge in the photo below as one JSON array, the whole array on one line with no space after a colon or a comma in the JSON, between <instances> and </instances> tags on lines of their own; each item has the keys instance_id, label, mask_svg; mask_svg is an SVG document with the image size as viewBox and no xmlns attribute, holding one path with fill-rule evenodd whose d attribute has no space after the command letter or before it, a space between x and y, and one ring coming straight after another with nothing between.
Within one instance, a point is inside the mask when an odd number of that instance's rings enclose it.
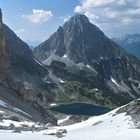
<instances>
[{"instance_id":1,"label":"brownish sunlit rock cliff face at the far left edge","mask_svg":"<svg viewBox=\"0 0 140 140\"><path fill-rule=\"evenodd\" d=\"M0 9L0 84L7 82L9 77L9 68L9 52L5 43L5 37L2 28L2 12Z\"/></svg>"}]
</instances>

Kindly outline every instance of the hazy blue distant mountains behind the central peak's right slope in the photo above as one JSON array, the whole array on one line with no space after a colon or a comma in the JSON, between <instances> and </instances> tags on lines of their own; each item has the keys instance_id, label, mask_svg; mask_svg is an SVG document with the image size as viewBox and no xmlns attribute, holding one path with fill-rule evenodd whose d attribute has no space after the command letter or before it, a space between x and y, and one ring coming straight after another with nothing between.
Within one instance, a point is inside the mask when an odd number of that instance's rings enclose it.
<instances>
[{"instance_id":1,"label":"hazy blue distant mountains behind the central peak's right slope","mask_svg":"<svg viewBox=\"0 0 140 140\"><path fill-rule=\"evenodd\" d=\"M140 34L127 34L120 38L112 38L112 40L140 59Z\"/></svg>"}]
</instances>

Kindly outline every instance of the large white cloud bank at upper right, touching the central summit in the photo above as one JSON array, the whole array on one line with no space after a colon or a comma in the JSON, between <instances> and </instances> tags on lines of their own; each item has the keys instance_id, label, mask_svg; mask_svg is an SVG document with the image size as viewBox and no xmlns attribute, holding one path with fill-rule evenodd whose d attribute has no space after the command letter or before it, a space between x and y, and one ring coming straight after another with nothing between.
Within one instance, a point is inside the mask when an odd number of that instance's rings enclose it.
<instances>
[{"instance_id":1,"label":"large white cloud bank at upper right, touching the central summit","mask_svg":"<svg viewBox=\"0 0 140 140\"><path fill-rule=\"evenodd\" d=\"M74 12L85 14L102 28L138 24L140 0L81 0Z\"/></svg>"}]
</instances>

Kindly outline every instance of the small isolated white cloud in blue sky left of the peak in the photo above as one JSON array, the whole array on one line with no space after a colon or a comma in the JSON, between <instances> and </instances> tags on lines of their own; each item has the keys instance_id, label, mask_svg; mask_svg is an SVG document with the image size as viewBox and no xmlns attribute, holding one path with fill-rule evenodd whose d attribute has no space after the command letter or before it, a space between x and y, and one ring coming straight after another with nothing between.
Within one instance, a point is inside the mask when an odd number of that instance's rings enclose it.
<instances>
[{"instance_id":1,"label":"small isolated white cloud in blue sky left of the peak","mask_svg":"<svg viewBox=\"0 0 140 140\"><path fill-rule=\"evenodd\" d=\"M51 11L45 11L43 9L33 9L32 14L22 15L22 17L28 19L32 23L39 23L48 21L53 16Z\"/></svg>"}]
</instances>

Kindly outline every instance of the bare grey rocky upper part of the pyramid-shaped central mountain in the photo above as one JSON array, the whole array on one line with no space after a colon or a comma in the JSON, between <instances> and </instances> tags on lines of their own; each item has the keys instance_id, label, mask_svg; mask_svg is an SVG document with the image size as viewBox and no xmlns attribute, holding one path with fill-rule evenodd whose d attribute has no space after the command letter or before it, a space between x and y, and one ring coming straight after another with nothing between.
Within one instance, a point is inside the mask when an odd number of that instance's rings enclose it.
<instances>
[{"instance_id":1,"label":"bare grey rocky upper part of the pyramid-shaped central mountain","mask_svg":"<svg viewBox=\"0 0 140 140\"><path fill-rule=\"evenodd\" d=\"M52 53L60 57L67 54L76 63L91 63L89 60L98 60L101 56L119 55L119 48L115 46L85 15L76 14L35 48L34 55L44 61Z\"/></svg>"}]
</instances>

